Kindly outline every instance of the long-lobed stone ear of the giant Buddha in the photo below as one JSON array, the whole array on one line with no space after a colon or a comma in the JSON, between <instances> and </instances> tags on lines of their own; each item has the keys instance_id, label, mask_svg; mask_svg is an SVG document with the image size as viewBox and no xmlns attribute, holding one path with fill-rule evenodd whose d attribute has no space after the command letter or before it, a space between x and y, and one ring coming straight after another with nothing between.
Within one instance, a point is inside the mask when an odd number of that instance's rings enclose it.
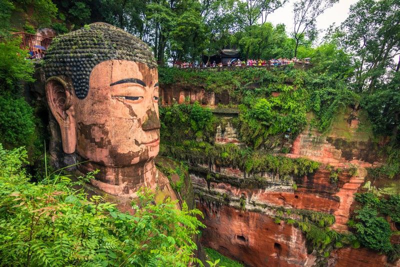
<instances>
[{"instance_id":1,"label":"long-lobed stone ear of the giant Buddha","mask_svg":"<svg viewBox=\"0 0 400 267\"><path fill-rule=\"evenodd\" d=\"M51 113L61 130L62 150L65 153L75 152L76 122L72 105L72 87L60 77L46 80L46 97Z\"/></svg>"}]
</instances>

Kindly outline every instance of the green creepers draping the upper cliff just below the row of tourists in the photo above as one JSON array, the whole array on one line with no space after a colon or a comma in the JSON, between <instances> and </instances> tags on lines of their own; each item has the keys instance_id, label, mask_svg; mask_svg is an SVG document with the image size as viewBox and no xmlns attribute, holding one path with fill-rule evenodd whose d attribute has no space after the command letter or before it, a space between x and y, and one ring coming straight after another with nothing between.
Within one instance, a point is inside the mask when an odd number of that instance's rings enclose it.
<instances>
[{"instance_id":1,"label":"green creepers draping the upper cliff just below the row of tourists","mask_svg":"<svg viewBox=\"0 0 400 267\"><path fill-rule=\"evenodd\" d=\"M356 105L359 96L346 82L332 74L318 71L273 68L237 68L233 70L164 68L158 69L162 84L202 85L205 90L227 90L240 107L240 137L255 147L268 136L282 134L288 128L295 135L306 124L305 113L313 111L317 128L329 129L337 112ZM292 85L284 84L290 81ZM256 88L254 88L254 85ZM278 91L278 97L270 97Z\"/></svg>"}]
</instances>

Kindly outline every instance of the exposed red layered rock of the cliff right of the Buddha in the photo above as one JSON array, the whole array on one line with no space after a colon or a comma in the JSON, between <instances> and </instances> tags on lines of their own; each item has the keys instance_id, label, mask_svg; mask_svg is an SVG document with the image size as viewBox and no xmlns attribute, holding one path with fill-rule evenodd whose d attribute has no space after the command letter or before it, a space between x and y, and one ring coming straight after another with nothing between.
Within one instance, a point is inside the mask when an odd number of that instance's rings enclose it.
<instances>
[{"instance_id":1,"label":"exposed red layered rock of the cliff right of the Buddha","mask_svg":"<svg viewBox=\"0 0 400 267\"><path fill-rule=\"evenodd\" d=\"M245 148L235 127L238 110L216 106L232 104L224 93L217 95L201 85L173 84L160 89L163 104L198 101L208 105L217 117L213 142ZM307 114L308 121L312 118ZM202 244L248 266L400 266L366 248L340 247L329 243L333 239L321 244L324 241L311 232L319 227L328 235L348 234L354 194L364 184L365 168L385 160L378 152L385 142L373 138L362 110L342 110L324 134L307 126L297 136L288 133L274 138L268 152L314 160L319 168L306 175L280 175L279 171L247 172L217 159L189 159L196 206L206 225ZM283 147L288 147L286 153Z\"/></svg>"}]
</instances>

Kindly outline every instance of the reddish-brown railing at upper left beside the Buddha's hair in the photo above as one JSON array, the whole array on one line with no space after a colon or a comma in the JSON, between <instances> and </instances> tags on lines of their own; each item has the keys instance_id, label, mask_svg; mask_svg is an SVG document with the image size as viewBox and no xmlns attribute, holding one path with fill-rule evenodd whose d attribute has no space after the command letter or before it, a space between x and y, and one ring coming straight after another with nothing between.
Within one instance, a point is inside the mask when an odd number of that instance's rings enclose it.
<instances>
[{"instance_id":1,"label":"reddish-brown railing at upper left beside the Buddha's hair","mask_svg":"<svg viewBox=\"0 0 400 267\"><path fill-rule=\"evenodd\" d=\"M12 33L15 36L21 36L21 48L28 49L30 58L40 59L44 56L52 38L43 37L23 31Z\"/></svg>"}]
</instances>

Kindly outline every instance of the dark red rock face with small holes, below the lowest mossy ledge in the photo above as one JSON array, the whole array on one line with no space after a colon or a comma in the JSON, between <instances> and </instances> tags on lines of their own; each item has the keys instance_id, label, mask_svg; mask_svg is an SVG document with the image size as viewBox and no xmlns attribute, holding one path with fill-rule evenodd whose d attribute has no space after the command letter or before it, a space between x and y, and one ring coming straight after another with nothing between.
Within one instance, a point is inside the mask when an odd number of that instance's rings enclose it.
<instances>
[{"instance_id":1,"label":"dark red rock face with small holes, below the lowest mossy ledge","mask_svg":"<svg viewBox=\"0 0 400 267\"><path fill-rule=\"evenodd\" d=\"M204 214L205 246L249 266L304 266L313 262L300 230L258 212L198 202Z\"/></svg>"}]
</instances>

